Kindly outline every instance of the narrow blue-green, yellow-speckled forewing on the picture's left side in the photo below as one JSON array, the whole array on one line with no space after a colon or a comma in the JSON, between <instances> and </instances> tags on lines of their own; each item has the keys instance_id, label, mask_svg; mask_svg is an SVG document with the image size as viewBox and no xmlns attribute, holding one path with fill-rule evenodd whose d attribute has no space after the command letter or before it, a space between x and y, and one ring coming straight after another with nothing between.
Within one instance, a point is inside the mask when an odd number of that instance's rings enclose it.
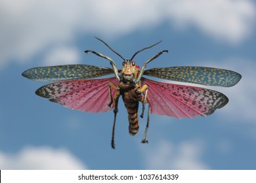
<instances>
[{"instance_id":1,"label":"narrow blue-green, yellow-speckled forewing on the picture's left side","mask_svg":"<svg viewBox=\"0 0 256 183\"><path fill-rule=\"evenodd\" d=\"M96 78L113 73L113 69L94 65L57 65L28 69L22 76L35 81L63 81Z\"/></svg>"}]
</instances>

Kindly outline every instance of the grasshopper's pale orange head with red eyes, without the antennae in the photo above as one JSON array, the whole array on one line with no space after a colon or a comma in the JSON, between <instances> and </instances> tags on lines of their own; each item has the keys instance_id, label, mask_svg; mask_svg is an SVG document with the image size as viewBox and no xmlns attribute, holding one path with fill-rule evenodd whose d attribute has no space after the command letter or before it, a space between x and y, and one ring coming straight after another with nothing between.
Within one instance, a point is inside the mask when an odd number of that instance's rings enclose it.
<instances>
[{"instance_id":1,"label":"grasshopper's pale orange head with red eyes, without the antennae","mask_svg":"<svg viewBox=\"0 0 256 183\"><path fill-rule=\"evenodd\" d=\"M121 69L121 80L127 84L134 83L139 73L139 65L135 65L135 61L129 59L123 61Z\"/></svg>"}]
</instances>

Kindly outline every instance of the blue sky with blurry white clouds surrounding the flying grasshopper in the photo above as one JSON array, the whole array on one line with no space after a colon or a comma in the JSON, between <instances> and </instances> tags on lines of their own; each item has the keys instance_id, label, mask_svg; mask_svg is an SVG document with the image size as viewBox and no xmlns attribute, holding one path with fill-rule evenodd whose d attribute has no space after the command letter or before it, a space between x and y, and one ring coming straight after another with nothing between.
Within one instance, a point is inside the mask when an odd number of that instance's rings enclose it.
<instances>
[{"instance_id":1,"label":"blue sky with blurry white clouds surrounding the flying grasshopper","mask_svg":"<svg viewBox=\"0 0 256 183\"><path fill-rule=\"evenodd\" d=\"M255 1L1 1L0 169L256 169ZM112 111L70 110L35 95L46 83L21 76L31 67L84 63L110 67L87 49L121 59L140 48L142 65L196 65L242 75L224 93L229 103L194 119L152 114L149 144L141 144L146 118L131 137L119 103L116 150L110 147Z\"/></svg>"}]
</instances>

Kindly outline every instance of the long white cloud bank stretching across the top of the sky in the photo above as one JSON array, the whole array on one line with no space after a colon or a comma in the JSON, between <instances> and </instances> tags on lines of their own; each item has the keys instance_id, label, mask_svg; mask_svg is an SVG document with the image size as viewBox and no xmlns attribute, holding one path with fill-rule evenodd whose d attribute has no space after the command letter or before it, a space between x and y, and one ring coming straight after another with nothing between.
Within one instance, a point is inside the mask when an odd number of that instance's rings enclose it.
<instances>
[{"instance_id":1,"label":"long white cloud bank stretching across the top of the sky","mask_svg":"<svg viewBox=\"0 0 256 183\"><path fill-rule=\"evenodd\" d=\"M240 42L253 29L254 17L249 0L2 0L0 67L11 59L27 61L47 46L73 42L77 33L117 37L166 21Z\"/></svg>"}]
</instances>

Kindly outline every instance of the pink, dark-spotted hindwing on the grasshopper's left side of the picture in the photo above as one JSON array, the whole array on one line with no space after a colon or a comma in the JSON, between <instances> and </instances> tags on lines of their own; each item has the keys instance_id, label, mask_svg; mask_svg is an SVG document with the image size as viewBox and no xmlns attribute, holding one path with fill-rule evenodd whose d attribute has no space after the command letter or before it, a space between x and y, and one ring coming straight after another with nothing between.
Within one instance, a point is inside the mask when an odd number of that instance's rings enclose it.
<instances>
[{"instance_id":1,"label":"pink, dark-spotted hindwing on the grasshopper's left side of the picture","mask_svg":"<svg viewBox=\"0 0 256 183\"><path fill-rule=\"evenodd\" d=\"M117 86L115 77L93 80L70 80L47 84L39 88L35 93L50 101L60 103L65 107L84 112L106 112L112 107L108 92L108 82ZM114 96L116 90L112 89Z\"/></svg>"}]
</instances>

